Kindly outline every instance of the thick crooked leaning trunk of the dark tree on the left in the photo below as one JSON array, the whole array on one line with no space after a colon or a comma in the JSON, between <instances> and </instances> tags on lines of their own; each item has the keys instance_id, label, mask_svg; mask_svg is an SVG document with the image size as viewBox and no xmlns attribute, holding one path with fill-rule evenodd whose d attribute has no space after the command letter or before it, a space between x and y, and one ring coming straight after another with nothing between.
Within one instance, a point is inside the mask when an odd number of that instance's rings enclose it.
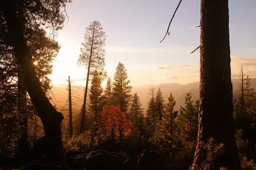
<instances>
[{"instance_id":1,"label":"thick crooked leaning trunk of the dark tree on the left","mask_svg":"<svg viewBox=\"0 0 256 170\"><path fill-rule=\"evenodd\" d=\"M13 1L3 1L3 14L8 26L9 38L11 39L15 58L20 65L24 76L24 84L28 90L31 101L44 125L47 138L47 157L51 160L64 160L61 143L61 121L63 115L55 110L45 96L40 81L36 76L35 66L32 63L32 55L29 51L24 34L20 30L19 20Z\"/></svg>"}]
</instances>

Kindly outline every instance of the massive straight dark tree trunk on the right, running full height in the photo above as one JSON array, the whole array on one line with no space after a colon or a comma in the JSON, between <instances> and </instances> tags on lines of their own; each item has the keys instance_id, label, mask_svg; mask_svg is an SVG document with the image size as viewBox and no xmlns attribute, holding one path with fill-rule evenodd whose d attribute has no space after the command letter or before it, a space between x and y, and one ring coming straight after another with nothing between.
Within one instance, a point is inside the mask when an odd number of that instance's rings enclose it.
<instances>
[{"instance_id":1,"label":"massive straight dark tree trunk on the right, running full height","mask_svg":"<svg viewBox=\"0 0 256 170\"><path fill-rule=\"evenodd\" d=\"M241 169L234 138L228 22L228 0L201 1L198 144L190 169L204 159L202 141L209 138L225 145L214 168Z\"/></svg>"}]
</instances>

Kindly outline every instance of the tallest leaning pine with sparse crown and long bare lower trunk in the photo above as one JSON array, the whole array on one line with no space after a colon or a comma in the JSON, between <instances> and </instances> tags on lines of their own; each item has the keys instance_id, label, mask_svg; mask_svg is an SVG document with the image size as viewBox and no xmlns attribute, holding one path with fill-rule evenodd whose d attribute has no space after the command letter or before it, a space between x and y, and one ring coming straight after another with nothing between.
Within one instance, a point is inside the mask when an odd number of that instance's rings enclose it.
<instances>
[{"instance_id":1,"label":"tallest leaning pine with sparse crown and long bare lower trunk","mask_svg":"<svg viewBox=\"0 0 256 170\"><path fill-rule=\"evenodd\" d=\"M84 91L80 133L82 133L85 128L86 98L90 76L92 73L94 73L95 70L104 73L105 41L106 35L105 32L102 31L102 26L100 25L99 21L93 21L90 23L90 26L86 28L86 34L84 34L84 42L82 43L81 47L81 54L77 61L79 66L87 67L87 78Z\"/></svg>"}]
</instances>

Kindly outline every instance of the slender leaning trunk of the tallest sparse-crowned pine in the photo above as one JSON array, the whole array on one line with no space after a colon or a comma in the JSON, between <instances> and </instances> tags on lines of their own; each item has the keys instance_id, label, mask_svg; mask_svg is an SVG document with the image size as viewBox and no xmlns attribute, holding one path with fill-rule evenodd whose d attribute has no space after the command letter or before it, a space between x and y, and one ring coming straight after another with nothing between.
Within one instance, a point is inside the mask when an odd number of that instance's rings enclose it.
<instances>
[{"instance_id":1,"label":"slender leaning trunk of the tallest sparse-crowned pine","mask_svg":"<svg viewBox=\"0 0 256 170\"><path fill-rule=\"evenodd\" d=\"M79 131L79 134L83 133L83 132L84 132L84 129L85 129L86 99L87 99L88 84L89 84L89 78L90 78L90 67L91 67L91 62L92 62L94 32L95 32L95 27L94 27L94 25L93 25L92 44L91 44L90 58L89 58L89 63L88 63L87 78L86 78L86 86L85 86L85 92L84 92L84 102L83 102L83 108L82 108L82 118L81 118L81 124L80 124L80 131Z\"/></svg>"}]
</instances>

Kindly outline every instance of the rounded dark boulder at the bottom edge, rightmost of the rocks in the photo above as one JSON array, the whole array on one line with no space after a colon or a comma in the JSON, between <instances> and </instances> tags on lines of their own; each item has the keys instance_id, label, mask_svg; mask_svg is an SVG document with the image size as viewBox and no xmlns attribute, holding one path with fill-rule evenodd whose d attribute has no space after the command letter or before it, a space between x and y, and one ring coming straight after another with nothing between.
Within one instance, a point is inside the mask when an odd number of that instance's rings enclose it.
<instances>
[{"instance_id":1,"label":"rounded dark boulder at the bottom edge, rightmost of the rocks","mask_svg":"<svg viewBox=\"0 0 256 170\"><path fill-rule=\"evenodd\" d=\"M144 150L138 155L138 164L147 170L164 169L163 159L157 151Z\"/></svg>"}]
</instances>

